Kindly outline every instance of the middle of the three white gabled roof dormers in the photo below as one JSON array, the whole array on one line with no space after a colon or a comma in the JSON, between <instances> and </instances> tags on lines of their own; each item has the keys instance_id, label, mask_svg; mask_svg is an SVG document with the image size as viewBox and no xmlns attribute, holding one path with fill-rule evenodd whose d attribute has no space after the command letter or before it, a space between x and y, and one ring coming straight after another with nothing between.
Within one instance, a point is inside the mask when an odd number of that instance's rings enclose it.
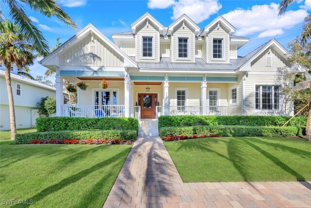
<instances>
[{"instance_id":1,"label":"middle of the three white gabled roof dormers","mask_svg":"<svg viewBox=\"0 0 311 208\"><path fill-rule=\"evenodd\" d=\"M172 62L195 62L195 37L200 27L187 15L182 15L169 25Z\"/></svg>"}]
</instances>

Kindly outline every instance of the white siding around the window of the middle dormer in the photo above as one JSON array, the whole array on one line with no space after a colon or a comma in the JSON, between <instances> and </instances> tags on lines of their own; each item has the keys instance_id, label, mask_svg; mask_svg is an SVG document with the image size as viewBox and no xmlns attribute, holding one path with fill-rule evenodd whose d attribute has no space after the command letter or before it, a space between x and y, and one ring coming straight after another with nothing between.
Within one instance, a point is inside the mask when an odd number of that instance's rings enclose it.
<instances>
[{"instance_id":1,"label":"white siding around the window of the middle dormer","mask_svg":"<svg viewBox=\"0 0 311 208\"><path fill-rule=\"evenodd\" d=\"M185 23L185 27L183 29L182 24L179 24L178 27L176 27L177 29L174 29L173 33L172 33L172 41L171 44L173 45L171 53L173 56L173 62L194 62L195 61L195 37L194 37L194 33L193 31L189 28L188 24ZM188 38L188 51L189 51L189 57L187 58L187 60L185 59L181 59L178 58L178 37L179 38Z\"/></svg>"}]
</instances>

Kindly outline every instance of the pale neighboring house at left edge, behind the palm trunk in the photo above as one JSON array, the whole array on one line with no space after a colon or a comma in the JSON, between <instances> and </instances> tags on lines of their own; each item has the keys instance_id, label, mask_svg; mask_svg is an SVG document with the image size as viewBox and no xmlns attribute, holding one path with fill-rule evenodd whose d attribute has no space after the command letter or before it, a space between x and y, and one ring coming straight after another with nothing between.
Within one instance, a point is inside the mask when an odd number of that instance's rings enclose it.
<instances>
[{"instance_id":1,"label":"pale neighboring house at left edge, behind the palm trunk","mask_svg":"<svg viewBox=\"0 0 311 208\"><path fill-rule=\"evenodd\" d=\"M0 131L10 130L9 102L4 70L4 65L0 64ZM30 128L35 125L35 118L37 118L37 111L34 111L37 109L37 102L41 100L41 97L55 97L56 89L17 75L16 66L12 66L11 69L11 85L14 97L16 127L17 129Z\"/></svg>"}]
</instances>

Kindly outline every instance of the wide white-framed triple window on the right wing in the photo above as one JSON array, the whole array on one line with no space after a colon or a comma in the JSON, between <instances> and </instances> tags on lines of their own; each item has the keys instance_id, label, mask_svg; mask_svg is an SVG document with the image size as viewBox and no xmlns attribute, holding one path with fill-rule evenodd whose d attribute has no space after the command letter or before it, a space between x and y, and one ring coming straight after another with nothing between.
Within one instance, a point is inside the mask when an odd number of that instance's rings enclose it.
<instances>
[{"instance_id":1,"label":"wide white-framed triple window on the right wing","mask_svg":"<svg viewBox=\"0 0 311 208\"><path fill-rule=\"evenodd\" d=\"M256 110L279 109L279 86L259 86L255 89Z\"/></svg>"}]
</instances>

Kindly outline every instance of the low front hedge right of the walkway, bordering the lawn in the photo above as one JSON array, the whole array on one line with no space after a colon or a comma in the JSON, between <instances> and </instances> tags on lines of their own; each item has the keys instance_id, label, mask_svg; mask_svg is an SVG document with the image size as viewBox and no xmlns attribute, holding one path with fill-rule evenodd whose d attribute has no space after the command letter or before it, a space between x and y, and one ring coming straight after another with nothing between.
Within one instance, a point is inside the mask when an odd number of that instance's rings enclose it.
<instances>
[{"instance_id":1,"label":"low front hedge right of the walkway, bordering the lawn","mask_svg":"<svg viewBox=\"0 0 311 208\"><path fill-rule=\"evenodd\" d=\"M297 127L264 127L264 126L193 126L164 127L159 131L160 137L181 135L213 135L219 136L295 136L299 133Z\"/></svg>"}]
</instances>

